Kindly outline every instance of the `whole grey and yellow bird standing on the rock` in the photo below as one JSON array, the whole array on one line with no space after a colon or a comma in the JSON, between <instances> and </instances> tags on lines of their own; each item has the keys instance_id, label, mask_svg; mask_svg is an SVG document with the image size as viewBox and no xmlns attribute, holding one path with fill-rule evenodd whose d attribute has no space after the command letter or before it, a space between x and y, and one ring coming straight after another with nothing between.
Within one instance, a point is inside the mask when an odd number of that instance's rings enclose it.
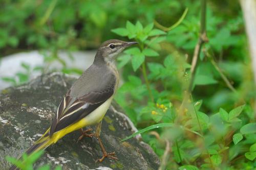
<instances>
[{"instance_id":1,"label":"whole grey and yellow bird standing on the rock","mask_svg":"<svg viewBox=\"0 0 256 170\"><path fill-rule=\"evenodd\" d=\"M117 159L113 156L115 152L108 154L105 151L99 138L101 121L118 87L119 76L115 58L124 48L136 43L112 39L101 44L93 64L69 89L59 104L51 127L27 150L28 155L44 150L66 134L80 129L82 135L79 139L83 136L98 138L103 156L97 161L101 162L105 157ZM92 129L82 130L83 127L95 124L98 125L94 134L87 133ZM13 165L10 169L18 168Z\"/></svg>"}]
</instances>

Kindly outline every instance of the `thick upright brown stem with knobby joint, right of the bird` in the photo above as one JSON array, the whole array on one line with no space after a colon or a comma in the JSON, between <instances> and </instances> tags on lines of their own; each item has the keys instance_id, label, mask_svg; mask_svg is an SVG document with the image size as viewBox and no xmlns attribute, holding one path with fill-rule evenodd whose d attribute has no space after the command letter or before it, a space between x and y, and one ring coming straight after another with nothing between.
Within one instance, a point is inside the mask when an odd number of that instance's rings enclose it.
<instances>
[{"instance_id":1,"label":"thick upright brown stem with knobby joint, right of the bird","mask_svg":"<svg viewBox=\"0 0 256 170\"><path fill-rule=\"evenodd\" d=\"M192 88L193 88L196 69L198 66L198 58L200 55L202 45L205 42L208 42L208 38L206 36L206 0L201 0L201 28L200 28L200 35L199 35L198 42L197 42L197 45L194 50L194 55L193 55L191 68L190 68L191 77L190 77L189 86L188 86L189 93L192 91Z\"/></svg>"}]
</instances>

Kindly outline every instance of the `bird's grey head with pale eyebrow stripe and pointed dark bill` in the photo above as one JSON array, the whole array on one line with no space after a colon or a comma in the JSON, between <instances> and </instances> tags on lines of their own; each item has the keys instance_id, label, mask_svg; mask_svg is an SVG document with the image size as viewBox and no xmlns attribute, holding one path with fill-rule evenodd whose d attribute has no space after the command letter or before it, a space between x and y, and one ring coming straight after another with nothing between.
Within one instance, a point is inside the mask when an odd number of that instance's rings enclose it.
<instances>
[{"instance_id":1,"label":"bird's grey head with pale eyebrow stripe and pointed dark bill","mask_svg":"<svg viewBox=\"0 0 256 170\"><path fill-rule=\"evenodd\" d=\"M138 42L125 42L118 39L111 39L103 42L100 45L97 53L103 57L104 61L112 62L125 48L137 43Z\"/></svg>"}]
</instances>

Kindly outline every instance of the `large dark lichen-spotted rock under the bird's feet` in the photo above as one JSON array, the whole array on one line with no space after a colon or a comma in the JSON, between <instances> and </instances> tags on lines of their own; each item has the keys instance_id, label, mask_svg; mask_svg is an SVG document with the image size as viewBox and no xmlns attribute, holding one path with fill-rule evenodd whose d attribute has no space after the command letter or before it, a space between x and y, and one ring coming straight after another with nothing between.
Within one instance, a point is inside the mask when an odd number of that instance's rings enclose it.
<instances>
[{"instance_id":1,"label":"large dark lichen-spotted rock under the bird's feet","mask_svg":"<svg viewBox=\"0 0 256 170\"><path fill-rule=\"evenodd\" d=\"M63 94L75 78L48 74L18 87L2 90L0 95L0 167L8 169L5 156L19 157L50 126ZM94 128L94 127L92 127ZM50 164L62 169L157 169L159 158L152 149L136 138L119 142L136 128L129 118L113 106L102 122L101 139L108 152L116 152L118 161L102 156L96 138L84 137L77 142L79 131L72 132L46 149L34 165Z\"/></svg>"}]
</instances>

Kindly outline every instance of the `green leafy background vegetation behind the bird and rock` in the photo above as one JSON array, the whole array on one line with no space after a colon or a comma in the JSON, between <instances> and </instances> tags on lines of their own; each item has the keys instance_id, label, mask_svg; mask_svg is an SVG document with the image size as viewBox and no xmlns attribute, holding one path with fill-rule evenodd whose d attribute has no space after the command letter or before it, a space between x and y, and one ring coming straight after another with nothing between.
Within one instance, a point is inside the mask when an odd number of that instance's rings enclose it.
<instances>
[{"instance_id":1,"label":"green leafy background vegetation behind the bird and rock","mask_svg":"<svg viewBox=\"0 0 256 170\"><path fill-rule=\"evenodd\" d=\"M253 169L255 90L238 1L207 1L209 41L200 52L193 97L181 111L200 35L200 11L201 1L193 0L2 0L0 56L50 51L45 62L56 60L62 65L60 71L81 74L79 69L65 69L57 52L97 49L108 39L139 41L138 47L118 58L123 83L115 101L139 130L161 123L183 127L142 134L162 162L167 162L161 167ZM166 29L177 21L177 27ZM23 67L29 69L26 64ZM26 71L22 76L18 82L12 77L2 79L17 85L30 77Z\"/></svg>"}]
</instances>

